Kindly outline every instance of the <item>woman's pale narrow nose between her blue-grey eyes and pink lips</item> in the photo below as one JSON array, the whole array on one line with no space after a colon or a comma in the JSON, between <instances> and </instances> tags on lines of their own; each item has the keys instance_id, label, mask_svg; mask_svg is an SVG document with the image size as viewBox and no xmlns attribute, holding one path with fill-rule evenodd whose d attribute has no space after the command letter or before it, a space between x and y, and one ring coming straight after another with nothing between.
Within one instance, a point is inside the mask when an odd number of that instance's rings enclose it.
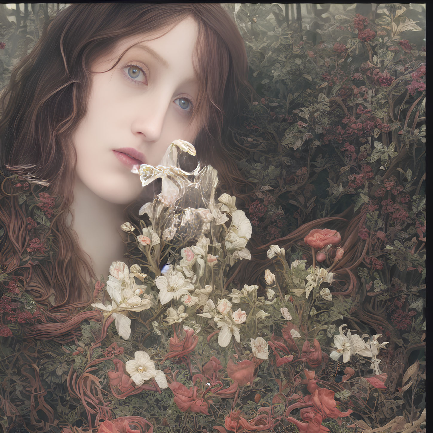
<instances>
[{"instance_id":1,"label":"woman's pale narrow nose between her blue-grey eyes and pink lips","mask_svg":"<svg viewBox=\"0 0 433 433\"><path fill-rule=\"evenodd\" d=\"M145 103L141 100L135 107L131 131L134 135L142 135L146 142L157 142L161 137L164 120L167 115L167 98L148 95ZM164 102L163 102L164 101Z\"/></svg>"}]
</instances>

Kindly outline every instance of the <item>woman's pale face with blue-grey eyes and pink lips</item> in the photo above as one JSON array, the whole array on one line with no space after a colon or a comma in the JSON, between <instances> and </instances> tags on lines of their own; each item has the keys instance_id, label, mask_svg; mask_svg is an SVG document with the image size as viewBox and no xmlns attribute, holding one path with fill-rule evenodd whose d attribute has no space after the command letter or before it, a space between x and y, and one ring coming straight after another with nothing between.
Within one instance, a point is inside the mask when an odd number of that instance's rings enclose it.
<instances>
[{"instance_id":1,"label":"woman's pale face with blue-grey eyes and pink lips","mask_svg":"<svg viewBox=\"0 0 433 433\"><path fill-rule=\"evenodd\" d=\"M198 94L193 68L197 24L192 18L162 34L122 39L110 55L91 66L87 113L73 140L78 178L99 197L115 204L132 202L142 190L134 165L158 165L174 139L193 142L190 123ZM153 39L153 38L157 39ZM153 40L149 40L153 39Z\"/></svg>"}]
</instances>

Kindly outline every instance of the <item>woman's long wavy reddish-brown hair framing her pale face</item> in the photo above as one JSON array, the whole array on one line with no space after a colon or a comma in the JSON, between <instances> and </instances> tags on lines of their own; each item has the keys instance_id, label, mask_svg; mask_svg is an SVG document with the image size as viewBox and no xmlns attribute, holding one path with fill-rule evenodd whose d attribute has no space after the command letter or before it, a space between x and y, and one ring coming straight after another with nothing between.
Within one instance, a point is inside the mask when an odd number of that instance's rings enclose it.
<instances>
[{"instance_id":1,"label":"woman's long wavy reddish-brown hair framing her pale face","mask_svg":"<svg viewBox=\"0 0 433 433\"><path fill-rule=\"evenodd\" d=\"M50 194L61 197L58 215L48 232L54 239L54 258L43 267L34 265L31 278L25 278L30 275L26 271L23 276L26 290L40 303L48 305L52 295L57 308L71 307L73 303L80 307L91 300L86 288L93 271L67 224L76 162L71 136L86 114L91 65L121 39L169 31L187 17L198 25L194 69L200 90L193 114L200 117L203 129L194 145L198 158L211 163L220 171L223 183L233 186L230 176L239 179L239 171L236 163L227 158L222 131L238 110L242 88L250 87L242 37L219 4L72 4L52 19L3 89L1 165L20 175L47 181ZM7 236L3 236L6 239L1 241L0 263L7 262L9 272L18 268L29 242L23 229L26 215L19 209L16 196L0 209L0 221L7 227Z\"/></svg>"}]
</instances>

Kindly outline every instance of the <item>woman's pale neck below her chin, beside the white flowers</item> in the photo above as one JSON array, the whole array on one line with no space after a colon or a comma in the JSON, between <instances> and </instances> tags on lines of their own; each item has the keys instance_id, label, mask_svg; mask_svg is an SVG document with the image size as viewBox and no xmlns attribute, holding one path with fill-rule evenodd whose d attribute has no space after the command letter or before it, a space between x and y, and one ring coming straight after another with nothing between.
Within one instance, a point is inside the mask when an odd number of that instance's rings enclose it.
<instances>
[{"instance_id":1,"label":"woman's pale neck below her chin, beside the white flowers","mask_svg":"<svg viewBox=\"0 0 433 433\"><path fill-rule=\"evenodd\" d=\"M124 205L103 200L80 179L75 180L71 228L91 260L96 277L107 278L112 262L123 261L126 252L120 226L125 222Z\"/></svg>"}]
</instances>

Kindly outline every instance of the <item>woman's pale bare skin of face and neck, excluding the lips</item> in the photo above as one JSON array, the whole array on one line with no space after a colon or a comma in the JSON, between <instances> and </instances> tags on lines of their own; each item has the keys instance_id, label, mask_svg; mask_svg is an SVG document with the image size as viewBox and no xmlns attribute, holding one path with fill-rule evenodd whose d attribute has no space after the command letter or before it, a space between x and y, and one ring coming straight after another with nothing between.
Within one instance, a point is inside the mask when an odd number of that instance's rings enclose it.
<instances>
[{"instance_id":1,"label":"woman's pale bare skin of face and neck, excluding the lips","mask_svg":"<svg viewBox=\"0 0 433 433\"><path fill-rule=\"evenodd\" d=\"M146 164L158 165L174 139L194 142L200 129L190 122L199 90L193 68L197 24L187 18L166 31L123 39L91 68L107 71L126 48L144 41L144 48L129 49L111 71L92 74L87 113L73 137L71 228L97 278L108 275L113 261L123 261L124 210L142 193L139 176L115 149L135 149Z\"/></svg>"}]
</instances>

